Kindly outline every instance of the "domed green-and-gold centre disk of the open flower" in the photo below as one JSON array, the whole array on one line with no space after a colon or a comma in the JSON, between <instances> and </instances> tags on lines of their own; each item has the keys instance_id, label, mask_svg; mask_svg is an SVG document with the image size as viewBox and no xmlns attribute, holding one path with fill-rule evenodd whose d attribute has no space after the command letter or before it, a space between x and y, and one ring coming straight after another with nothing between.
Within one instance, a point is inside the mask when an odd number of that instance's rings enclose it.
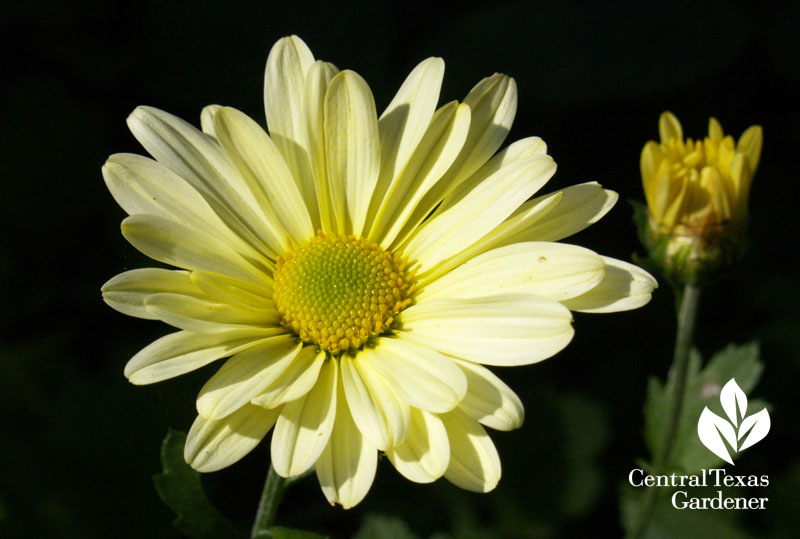
<instances>
[{"instance_id":1,"label":"domed green-and-gold centre disk of the open flower","mask_svg":"<svg viewBox=\"0 0 800 539\"><path fill-rule=\"evenodd\" d=\"M411 303L406 261L355 236L319 233L278 258L283 324L331 354L360 348Z\"/></svg>"}]
</instances>

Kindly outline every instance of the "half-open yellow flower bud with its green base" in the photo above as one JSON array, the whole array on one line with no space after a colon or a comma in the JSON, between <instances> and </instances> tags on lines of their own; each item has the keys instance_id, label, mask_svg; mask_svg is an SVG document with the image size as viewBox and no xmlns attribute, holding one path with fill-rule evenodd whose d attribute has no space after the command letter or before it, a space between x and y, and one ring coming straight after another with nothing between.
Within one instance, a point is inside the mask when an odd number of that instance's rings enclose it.
<instances>
[{"instance_id":1,"label":"half-open yellow flower bud with its green base","mask_svg":"<svg viewBox=\"0 0 800 539\"><path fill-rule=\"evenodd\" d=\"M640 163L647 199L645 243L671 276L696 281L727 265L740 250L737 236L747 221L761 126L749 127L735 142L711 118L705 139L684 139L678 119L664 112L658 130L661 141L645 144Z\"/></svg>"}]
</instances>

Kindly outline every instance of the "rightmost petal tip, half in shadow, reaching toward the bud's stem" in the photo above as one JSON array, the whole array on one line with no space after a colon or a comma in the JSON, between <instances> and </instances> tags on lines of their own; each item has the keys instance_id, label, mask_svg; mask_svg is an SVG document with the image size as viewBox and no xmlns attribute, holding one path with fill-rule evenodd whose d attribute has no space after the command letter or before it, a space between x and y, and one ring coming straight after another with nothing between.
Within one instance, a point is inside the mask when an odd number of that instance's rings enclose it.
<instances>
[{"instance_id":1,"label":"rightmost petal tip, half in shadow, reaching toward the bud's stem","mask_svg":"<svg viewBox=\"0 0 800 539\"><path fill-rule=\"evenodd\" d=\"M650 301L658 286L652 275L622 260L602 258L606 264L603 280L588 292L562 302L564 306L584 313L613 313L638 309Z\"/></svg>"}]
</instances>

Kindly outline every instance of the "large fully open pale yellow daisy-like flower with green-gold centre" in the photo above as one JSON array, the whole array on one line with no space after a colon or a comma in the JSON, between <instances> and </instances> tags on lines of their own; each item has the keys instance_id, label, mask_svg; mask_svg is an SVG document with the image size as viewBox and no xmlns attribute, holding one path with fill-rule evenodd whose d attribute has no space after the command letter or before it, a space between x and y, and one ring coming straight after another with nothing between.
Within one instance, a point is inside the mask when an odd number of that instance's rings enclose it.
<instances>
[{"instance_id":1,"label":"large fully open pale yellow daisy-like flower with green-gold centre","mask_svg":"<svg viewBox=\"0 0 800 539\"><path fill-rule=\"evenodd\" d=\"M125 368L149 384L229 358L200 390L185 457L228 466L272 430L284 477L316 467L331 503L357 504L378 452L405 477L473 491L500 479L484 426L523 407L484 365L548 358L570 310L639 307L655 281L553 243L602 217L596 183L528 200L555 172L536 137L496 155L516 110L495 74L437 109L444 64L420 63L378 117L352 71L297 37L267 60L269 134L209 106L202 131L166 112L128 120L155 158L118 154L103 176L122 233L179 270L125 272L103 297L180 331Z\"/></svg>"}]
</instances>

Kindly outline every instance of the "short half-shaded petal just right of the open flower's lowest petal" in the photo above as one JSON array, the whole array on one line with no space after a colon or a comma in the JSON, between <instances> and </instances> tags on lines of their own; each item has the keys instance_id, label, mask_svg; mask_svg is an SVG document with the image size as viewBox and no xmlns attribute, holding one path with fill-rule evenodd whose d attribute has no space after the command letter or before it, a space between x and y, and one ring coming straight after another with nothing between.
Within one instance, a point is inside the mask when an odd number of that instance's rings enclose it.
<instances>
[{"instance_id":1,"label":"short half-shaded petal just right of the open flower's lowest petal","mask_svg":"<svg viewBox=\"0 0 800 539\"><path fill-rule=\"evenodd\" d=\"M430 483L439 479L450 463L450 442L438 416L411 408L406 441L386 450L386 456L406 479Z\"/></svg>"}]
</instances>

